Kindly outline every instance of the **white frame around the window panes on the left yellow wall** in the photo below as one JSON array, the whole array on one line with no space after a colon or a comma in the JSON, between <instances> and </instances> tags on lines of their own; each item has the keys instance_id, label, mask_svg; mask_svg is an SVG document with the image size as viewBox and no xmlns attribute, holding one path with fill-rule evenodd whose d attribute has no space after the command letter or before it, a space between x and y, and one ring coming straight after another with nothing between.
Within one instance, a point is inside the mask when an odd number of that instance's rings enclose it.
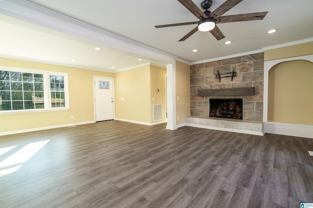
<instances>
[{"instance_id":1,"label":"white frame around the window panes on the left yellow wall","mask_svg":"<svg viewBox=\"0 0 313 208\"><path fill-rule=\"evenodd\" d=\"M0 70L11 71L11 72L32 73L32 74L42 74L44 78L44 102L45 102L45 108L43 109L7 110L7 111L0 111L0 114L69 110L68 74L67 73L36 70L36 69L25 69L25 68L17 68L17 67L7 67L7 66L0 66ZM51 107L50 75L64 76L65 107Z\"/></svg>"}]
</instances>

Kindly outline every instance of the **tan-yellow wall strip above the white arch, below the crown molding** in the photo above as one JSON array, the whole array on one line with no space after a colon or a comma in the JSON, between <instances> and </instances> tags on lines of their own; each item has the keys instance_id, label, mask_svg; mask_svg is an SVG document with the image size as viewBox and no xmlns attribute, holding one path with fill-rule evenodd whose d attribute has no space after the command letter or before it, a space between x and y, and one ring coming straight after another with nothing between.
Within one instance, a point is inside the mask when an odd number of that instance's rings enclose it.
<instances>
[{"instance_id":1,"label":"tan-yellow wall strip above the white arch, below the crown molding","mask_svg":"<svg viewBox=\"0 0 313 208\"><path fill-rule=\"evenodd\" d=\"M267 50L264 52L264 60L268 61L281 58L300 57L310 54L313 54L313 41Z\"/></svg>"}]
</instances>

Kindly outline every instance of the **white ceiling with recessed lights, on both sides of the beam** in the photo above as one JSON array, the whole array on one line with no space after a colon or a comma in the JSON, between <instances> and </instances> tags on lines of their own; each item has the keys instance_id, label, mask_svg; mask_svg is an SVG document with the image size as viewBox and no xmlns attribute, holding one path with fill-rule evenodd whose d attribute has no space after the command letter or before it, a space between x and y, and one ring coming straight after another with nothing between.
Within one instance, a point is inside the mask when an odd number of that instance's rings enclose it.
<instances>
[{"instance_id":1,"label":"white ceiling with recessed lights, on both sides of the beam","mask_svg":"<svg viewBox=\"0 0 313 208\"><path fill-rule=\"evenodd\" d=\"M202 0L193 1L200 7ZM224 1L213 0L210 10L213 11ZM178 40L195 25L158 29L154 27L198 20L178 0L28 0L28 2L134 40L188 63L257 51L263 47L313 37L313 0L243 0L224 15L268 11L267 16L263 20L218 24L226 37L219 41L209 32L198 31L181 42ZM149 56L125 52L97 41L44 28L7 15L1 15L0 20L2 57L17 57L103 71L119 71L149 62L166 64ZM277 32L267 34L270 29L277 29ZM226 40L232 43L225 45ZM95 51L94 47L101 47L102 50ZM193 53L193 49L199 51ZM138 61L138 58L143 60ZM72 59L76 59L77 62L72 62ZM112 66L115 68L112 69Z\"/></svg>"}]
</instances>

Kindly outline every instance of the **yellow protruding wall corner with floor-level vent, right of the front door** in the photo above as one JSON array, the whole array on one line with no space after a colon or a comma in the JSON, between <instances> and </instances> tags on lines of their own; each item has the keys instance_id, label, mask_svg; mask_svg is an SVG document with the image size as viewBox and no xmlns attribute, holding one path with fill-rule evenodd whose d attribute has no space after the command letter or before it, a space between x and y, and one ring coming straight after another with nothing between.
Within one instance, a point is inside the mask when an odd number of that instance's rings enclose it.
<instances>
[{"instance_id":1,"label":"yellow protruding wall corner with floor-level vent, right of the front door","mask_svg":"<svg viewBox=\"0 0 313 208\"><path fill-rule=\"evenodd\" d=\"M115 118L150 124L153 104L161 103L165 121L165 74L165 68L152 65L115 73Z\"/></svg>"}]
</instances>

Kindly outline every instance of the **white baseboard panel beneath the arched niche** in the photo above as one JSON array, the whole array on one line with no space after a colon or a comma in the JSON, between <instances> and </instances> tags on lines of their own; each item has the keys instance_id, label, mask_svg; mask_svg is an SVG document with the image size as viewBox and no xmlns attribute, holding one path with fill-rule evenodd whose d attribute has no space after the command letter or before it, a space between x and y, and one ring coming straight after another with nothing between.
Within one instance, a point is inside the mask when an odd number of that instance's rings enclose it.
<instances>
[{"instance_id":1,"label":"white baseboard panel beneath the arched niche","mask_svg":"<svg viewBox=\"0 0 313 208\"><path fill-rule=\"evenodd\" d=\"M287 136L313 138L313 125L265 122L265 132Z\"/></svg>"}]
</instances>

